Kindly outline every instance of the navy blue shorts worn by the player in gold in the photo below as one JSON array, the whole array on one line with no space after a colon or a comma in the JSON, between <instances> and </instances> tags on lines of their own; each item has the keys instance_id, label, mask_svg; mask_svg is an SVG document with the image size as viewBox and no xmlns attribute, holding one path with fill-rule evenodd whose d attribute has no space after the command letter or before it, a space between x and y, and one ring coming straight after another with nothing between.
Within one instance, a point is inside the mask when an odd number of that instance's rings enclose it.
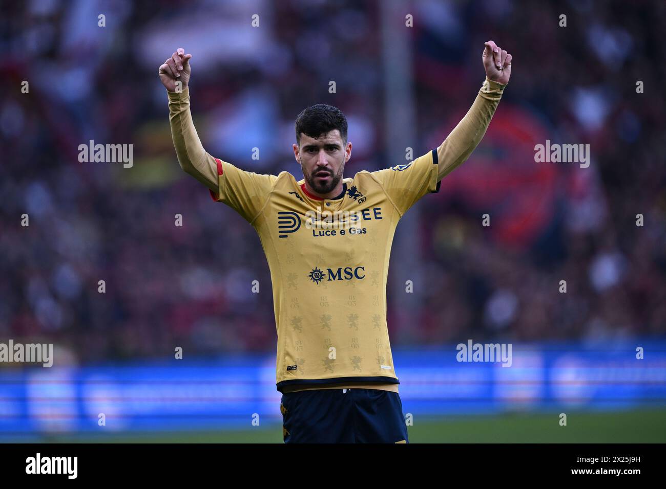
<instances>
[{"instance_id":1,"label":"navy blue shorts worn by the player in gold","mask_svg":"<svg viewBox=\"0 0 666 489\"><path fill-rule=\"evenodd\" d=\"M282 394L285 443L409 443L398 393L317 389Z\"/></svg>"}]
</instances>

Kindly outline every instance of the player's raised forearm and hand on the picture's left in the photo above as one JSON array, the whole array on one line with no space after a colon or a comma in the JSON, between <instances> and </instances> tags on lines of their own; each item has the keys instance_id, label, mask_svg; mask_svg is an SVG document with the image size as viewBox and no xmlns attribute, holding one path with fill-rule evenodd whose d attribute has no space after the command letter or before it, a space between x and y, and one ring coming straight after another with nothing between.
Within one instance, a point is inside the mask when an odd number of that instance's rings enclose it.
<instances>
[{"instance_id":1,"label":"player's raised forearm and hand on the picture's left","mask_svg":"<svg viewBox=\"0 0 666 489\"><path fill-rule=\"evenodd\" d=\"M171 137L180 168L213 192L218 192L216 160L204 150L190 114L191 57L178 48L159 70L160 80L167 90Z\"/></svg>"}]
</instances>

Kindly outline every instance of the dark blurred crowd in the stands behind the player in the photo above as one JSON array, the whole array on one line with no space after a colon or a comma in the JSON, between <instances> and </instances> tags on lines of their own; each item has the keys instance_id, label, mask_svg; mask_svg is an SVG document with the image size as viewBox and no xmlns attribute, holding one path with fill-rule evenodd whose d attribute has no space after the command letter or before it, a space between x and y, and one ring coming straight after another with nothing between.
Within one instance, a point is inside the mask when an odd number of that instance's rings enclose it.
<instances>
[{"instance_id":1,"label":"dark blurred crowd in the stands behind the player","mask_svg":"<svg viewBox=\"0 0 666 489\"><path fill-rule=\"evenodd\" d=\"M180 170L157 69L177 47L192 53L198 134L245 170L300 180L296 115L338 106L353 176L404 162L386 151L382 29L409 29L415 156L474 101L484 42L513 55L482 144L404 217L418 220L424 282L418 317L404 325L392 322L389 285L392 346L664 335L666 4L396 5L402 16L386 19L378 0L6 4L0 341L57 343L81 362L168 357L178 346L274 351L256 232ZM589 168L536 163L533 146L547 139L589 144ZM132 168L79 162L89 140L133 144Z\"/></svg>"}]
</instances>

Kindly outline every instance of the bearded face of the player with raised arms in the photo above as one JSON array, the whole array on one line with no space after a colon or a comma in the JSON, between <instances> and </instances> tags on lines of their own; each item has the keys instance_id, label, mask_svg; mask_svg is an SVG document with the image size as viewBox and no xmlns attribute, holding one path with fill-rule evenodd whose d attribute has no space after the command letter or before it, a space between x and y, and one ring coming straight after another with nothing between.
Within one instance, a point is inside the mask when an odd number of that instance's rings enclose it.
<instances>
[{"instance_id":1,"label":"bearded face of the player with raised arms","mask_svg":"<svg viewBox=\"0 0 666 489\"><path fill-rule=\"evenodd\" d=\"M318 138L300 134L300 146L294 144L294 156L303 170L308 186L325 198L342 192L344 164L352 156L352 143L343 146L340 131L334 129ZM340 188L338 189L338 185ZM327 195L333 194L335 195Z\"/></svg>"}]
</instances>

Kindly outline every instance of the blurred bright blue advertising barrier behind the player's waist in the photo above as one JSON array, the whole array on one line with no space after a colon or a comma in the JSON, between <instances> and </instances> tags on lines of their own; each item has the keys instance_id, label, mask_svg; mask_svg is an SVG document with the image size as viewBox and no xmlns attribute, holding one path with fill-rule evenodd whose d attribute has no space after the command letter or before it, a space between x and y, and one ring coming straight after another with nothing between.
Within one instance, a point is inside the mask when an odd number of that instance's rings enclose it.
<instances>
[{"instance_id":1,"label":"blurred bright blue advertising barrier behind the player's waist","mask_svg":"<svg viewBox=\"0 0 666 489\"><path fill-rule=\"evenodd\" d=\"M511 366L502 367L459 362L456 345L394 351L404 413L666 406L664 342L514 344L511 353ZM250 428L280 420L274 355L0 369L5 435Z\"/></svg>"}]
</instances>

